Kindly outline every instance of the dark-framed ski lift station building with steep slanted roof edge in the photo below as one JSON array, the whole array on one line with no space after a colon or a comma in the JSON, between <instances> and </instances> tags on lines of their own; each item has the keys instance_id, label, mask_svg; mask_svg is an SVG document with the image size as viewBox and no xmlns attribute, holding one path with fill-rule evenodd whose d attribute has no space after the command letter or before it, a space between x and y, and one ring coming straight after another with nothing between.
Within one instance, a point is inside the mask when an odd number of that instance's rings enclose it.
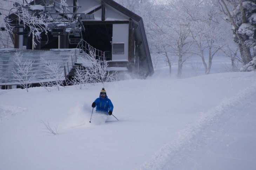
<instances>
[{"instance_id":1,"label":"dark-framed ski lift station building with steep slanted roof edge","mask_svg":"<svg viewBox=\"0 0 256 170\"><path fill-rule=\"evenodd\" d=\"M60 2L36 0L25 5L33 13L48 13L52 18L50 30L41 33L40 40L34 38L36 46L33 36L28 35L29 27L24 28L16 15L9 15L15 49L29 52L80 48L79 53L83 53L90 47L99 59L106 61L109 70L123 70L140 78L154 73L140 16L113 0L67 0L68 7L62 8Z\"/></svg>"}]
</instances>

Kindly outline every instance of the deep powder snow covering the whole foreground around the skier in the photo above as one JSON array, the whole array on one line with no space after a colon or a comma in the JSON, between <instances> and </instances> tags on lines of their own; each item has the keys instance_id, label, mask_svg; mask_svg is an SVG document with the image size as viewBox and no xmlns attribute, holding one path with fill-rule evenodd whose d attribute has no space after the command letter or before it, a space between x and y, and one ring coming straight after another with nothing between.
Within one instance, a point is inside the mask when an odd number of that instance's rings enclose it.
<instances>
[{"instance_id":1,"label":"deep powder snow covering the whole foreground around the skier","mask_svg":"<svg viewBox=\"0 0 256 170\"><path fill-rule=\"evenodd\" d=\"M256 72L166 73L106 83L106 123L89 123L102 84L0 90L0 169L256 169Z\"/></svg>"}]
</instances>

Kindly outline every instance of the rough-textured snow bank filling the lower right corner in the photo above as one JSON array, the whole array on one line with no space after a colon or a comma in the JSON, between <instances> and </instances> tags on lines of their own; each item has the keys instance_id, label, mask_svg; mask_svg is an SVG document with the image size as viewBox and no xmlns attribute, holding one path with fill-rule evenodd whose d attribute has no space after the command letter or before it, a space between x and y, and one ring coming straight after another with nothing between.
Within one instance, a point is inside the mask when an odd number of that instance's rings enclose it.
<instances>
[{"instance_id":1,"label":"rough-textured snow bank filling the lower right corner","mask_svg":"<svg viewBox=\"0 0 256 170\"><path fill-rule=\"evenodd\" d=\"M209 109L137 169L255 169L256 83Z\"/></svg>"}]
</instances>

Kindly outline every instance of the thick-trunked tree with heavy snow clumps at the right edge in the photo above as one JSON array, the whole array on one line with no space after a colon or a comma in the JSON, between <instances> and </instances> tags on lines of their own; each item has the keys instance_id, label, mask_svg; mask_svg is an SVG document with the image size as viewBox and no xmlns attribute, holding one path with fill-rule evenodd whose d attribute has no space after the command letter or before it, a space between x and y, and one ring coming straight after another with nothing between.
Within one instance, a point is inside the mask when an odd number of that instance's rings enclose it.
<instances>
[{"instance_id":1,"label":"thick-trunked tree with heavy snow clumps at the right edge","mask_svg":"<svg viewBox=\"0 0 256 170\"><path fill-rule=\"evenodd\" d=\"M256 56L256 3L255 0L218 0L221 10L233 28L244 64ZM252 54L251 51L252 50Z\"/></svg>"}]
</instances>

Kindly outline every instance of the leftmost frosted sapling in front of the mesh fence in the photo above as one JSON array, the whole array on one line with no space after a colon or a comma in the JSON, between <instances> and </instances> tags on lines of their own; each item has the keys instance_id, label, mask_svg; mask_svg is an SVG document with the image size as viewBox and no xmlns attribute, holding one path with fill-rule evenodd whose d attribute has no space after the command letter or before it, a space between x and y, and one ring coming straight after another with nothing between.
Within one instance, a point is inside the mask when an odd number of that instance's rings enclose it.
<instances>
[{"instance_id":1,"label":"leftmost frosted sapling in front of the mesh fence","mask_svg":"<svg viewBox=\"0 0 256 170\"><path fill-rule=\"evenodd\" d=\"M34 61L22 61L23 54L20 54L20 52L15 52L14 54L15 68L12 70L12 74L16 81L28 92L28 88L35 77L32 66Z\"/></svg>"}]
</instances>

